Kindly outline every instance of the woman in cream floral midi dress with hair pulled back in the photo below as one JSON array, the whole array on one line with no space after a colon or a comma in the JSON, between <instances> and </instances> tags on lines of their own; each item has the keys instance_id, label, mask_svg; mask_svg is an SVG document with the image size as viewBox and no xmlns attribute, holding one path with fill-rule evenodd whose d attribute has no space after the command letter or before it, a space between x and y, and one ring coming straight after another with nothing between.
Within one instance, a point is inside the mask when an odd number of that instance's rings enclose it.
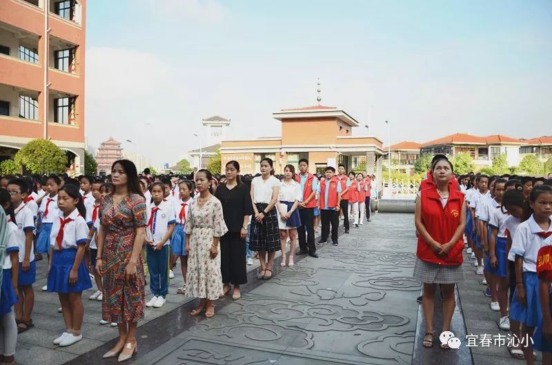
<instances>
[{"instance_id":1,"label":"woman in cream floral midi dress with hair pulled back","mask_svg":"<svg viewBox=\"0 0 552 365\"><path fill-rule=\"evenodd\" d=\"M186 277L186 296L197 297L199 306L190 311L190 315L199 315L205 310L205 317L215 315L213 300L222 292L220 272L219 240L228 232L222 205L210 192L213 179L209 170L201 169L195 174L195 186L199 197L190 204L190 213L186 221L186 253L188 253L188 275Z\"/></svg>"}]
</instances>

